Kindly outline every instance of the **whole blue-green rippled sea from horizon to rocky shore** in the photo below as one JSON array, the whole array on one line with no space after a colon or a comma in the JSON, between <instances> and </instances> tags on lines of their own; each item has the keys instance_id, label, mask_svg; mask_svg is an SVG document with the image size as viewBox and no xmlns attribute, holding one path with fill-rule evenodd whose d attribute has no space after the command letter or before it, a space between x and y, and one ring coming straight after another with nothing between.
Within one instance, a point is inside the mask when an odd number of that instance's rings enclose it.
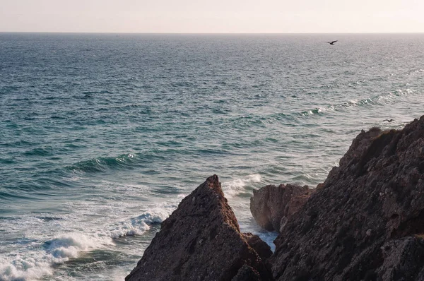
<instances>
[{"instance_id":1,"label":"whole blue-green rippled sea from horizon to rocky shore","mask_svg":"<svg viewBox=\"0 0 424 281\"><path fill-rule=\"evenodd\" d=\"M422 34L0 33L0 280L123 280L212 174L271 243L253 189L319 184L423 93Z\"/></svg>"}]
</instances>

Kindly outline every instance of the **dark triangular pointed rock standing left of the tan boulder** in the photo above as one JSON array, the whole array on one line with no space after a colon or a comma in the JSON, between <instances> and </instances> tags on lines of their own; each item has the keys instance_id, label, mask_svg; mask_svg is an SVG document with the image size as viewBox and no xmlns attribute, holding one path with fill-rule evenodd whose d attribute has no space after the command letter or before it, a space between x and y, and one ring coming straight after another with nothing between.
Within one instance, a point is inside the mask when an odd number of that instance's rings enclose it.
<instances>
[{"instance_id":1,"label":"dark triangular pointed rock standing left of the tan boulder","mask_svg":"<svg viewBox=\"0 0 424 281\"><path fill-rule=\"evenodd\" d=\"M267 256L271 250L264 241L240 233L214 175L162 223L125 280L271 280Z\"/></svg>"}]
</instances>

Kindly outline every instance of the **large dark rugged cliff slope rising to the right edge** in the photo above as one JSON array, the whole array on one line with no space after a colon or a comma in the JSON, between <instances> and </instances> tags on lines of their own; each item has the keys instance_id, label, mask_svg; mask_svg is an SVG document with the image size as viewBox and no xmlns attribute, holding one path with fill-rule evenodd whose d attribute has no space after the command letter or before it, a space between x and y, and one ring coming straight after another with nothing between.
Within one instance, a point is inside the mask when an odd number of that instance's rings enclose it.
<instances>
[{"instance_id":1,"label":"large dark rugged cliff slope rising to the right edge","mask_svg":"<svg viewBox=\"0 0 424 281\"><path fill-rule=\"evenodd\" d=\"M289 218L276 280L424 280L424 116L362 131Z\"/></svg>"}]
</instances>

